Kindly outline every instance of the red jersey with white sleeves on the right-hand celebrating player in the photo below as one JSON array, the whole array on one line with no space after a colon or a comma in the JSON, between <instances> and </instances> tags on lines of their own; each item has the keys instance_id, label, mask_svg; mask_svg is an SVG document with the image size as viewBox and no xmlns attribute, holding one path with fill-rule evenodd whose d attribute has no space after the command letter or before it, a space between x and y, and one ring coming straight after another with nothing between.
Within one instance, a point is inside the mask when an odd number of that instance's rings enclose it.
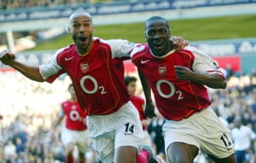
<instances>
[{"instance_id":1,"label":"red jersey with white sleeves on the right-hand celebrating player","mask_svg":"<svg viewBox=\"0 0 256 163\"><path fill-rule=\"evenodd\" d=\"M150 52L148 44L141 44L133 50L131 59L148 80L158 110L168 120L182 120L211 104L207 88L195 82L178 80L174 65L222 75L212 58L192 47L167 53L159 59Z\"/></svg>"}]
</instances>

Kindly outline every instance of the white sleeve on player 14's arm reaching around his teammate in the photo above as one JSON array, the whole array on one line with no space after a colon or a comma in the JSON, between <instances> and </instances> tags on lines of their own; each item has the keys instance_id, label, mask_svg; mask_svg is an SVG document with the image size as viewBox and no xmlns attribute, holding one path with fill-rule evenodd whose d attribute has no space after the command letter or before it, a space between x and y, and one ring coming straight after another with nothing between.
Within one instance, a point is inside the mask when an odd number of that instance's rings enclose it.
<instances>
[{"instance_id":1,"label":"white sleeve on player 14's arm reaching around his teammate","mask_svg":"<svg viewBox=\"0 0 256 163\"><path fill-rule=\"evenodd\" d=\"M130 53L133 48L136 47L136 43L128 42L127 40L122 39L113 39L107 41L111 51L112 51L112 58L122 58L128 57L131 58Z\"/></svg>"}]
</instances>

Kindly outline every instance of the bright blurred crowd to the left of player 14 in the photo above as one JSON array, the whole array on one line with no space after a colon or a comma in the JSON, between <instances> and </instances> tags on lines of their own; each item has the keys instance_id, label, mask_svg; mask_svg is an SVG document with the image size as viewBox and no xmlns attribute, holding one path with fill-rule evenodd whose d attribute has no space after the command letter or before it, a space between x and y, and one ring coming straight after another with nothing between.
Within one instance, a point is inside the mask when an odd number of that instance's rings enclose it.
<instances>
[{"instance_id":1,"label":"bright blurred crowd to the left of player 14","mask_svg":"<svg viewBox=\"0 0 256 163\"><path fill-rule=\"evenodd\" d=\"M61 128L51 134L61 102L69 98L67 76L52 84L32 82L16 71L0 71L0 163L65 162ZM90 163L96 153L90 142Z\"/></svg>"}]
</instances>

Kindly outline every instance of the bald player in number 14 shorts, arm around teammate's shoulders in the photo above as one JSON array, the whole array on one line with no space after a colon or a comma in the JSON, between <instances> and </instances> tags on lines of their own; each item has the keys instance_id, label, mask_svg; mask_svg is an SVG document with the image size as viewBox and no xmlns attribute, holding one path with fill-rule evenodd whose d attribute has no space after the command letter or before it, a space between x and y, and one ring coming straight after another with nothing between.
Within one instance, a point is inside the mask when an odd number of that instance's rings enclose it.
<instances>
[{"instance_id":1,"label":"bald player in number 14 shorts, arm around teammate's shoulders","mask_svg":"<svg viewBox=\"0 0 256 163\"><path fill-rule=\"evenodd\" d=\"M0 60L37 82L54 82L67 73L87 115L89 137L95 142L102 162L136 162L144 135L125 87L123 65L124 59L131 59L136 44L93 37L93 31L90 14L74 13L69 17L68 27L74 44L58 50L49 63L25 65L15 60L15 54L9 50L0 53ZM182 38L175 42L178 49L188 44Z\"/></svg>"}]
</instances>

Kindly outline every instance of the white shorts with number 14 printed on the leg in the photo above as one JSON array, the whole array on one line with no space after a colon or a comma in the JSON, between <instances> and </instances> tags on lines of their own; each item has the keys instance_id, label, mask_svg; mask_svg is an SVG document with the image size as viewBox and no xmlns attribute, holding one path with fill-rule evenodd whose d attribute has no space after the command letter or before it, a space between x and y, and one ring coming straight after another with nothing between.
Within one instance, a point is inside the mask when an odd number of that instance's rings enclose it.
<instances>
[{"instance_id":1,"label":"white shorts with number 14 printed on the leg","mask_svg":"<svg viewBox=\"0 0 256 163\"><path fill-rule=\"evenodd\" d=\"M140 148L143 126L135 106L129 101L111 115L87 116L90 138L104 163L112 163L114 149L121 146Z\"/></svg>"}]
</instances>

